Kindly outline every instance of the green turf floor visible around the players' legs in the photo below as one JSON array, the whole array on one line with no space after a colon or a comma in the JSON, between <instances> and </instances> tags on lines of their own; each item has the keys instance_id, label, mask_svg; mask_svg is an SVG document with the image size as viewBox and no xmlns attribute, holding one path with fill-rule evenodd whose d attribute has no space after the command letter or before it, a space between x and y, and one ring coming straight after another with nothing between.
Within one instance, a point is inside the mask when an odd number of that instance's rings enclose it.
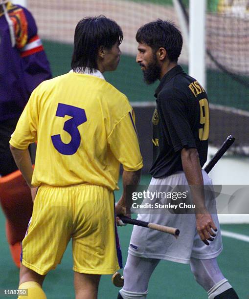
<instances>
[{"instance_id":1,"label":"green turf floor visible around the players' legs","mask_svg":"<svg viewBox=\"0 0 249 299\"><path fill-rule=\"evenodd\" d=\"M147 184L150 176L143 176L141 184ZM120 182L119 182L119 185ZM121 190L115 192L116 199L121 195ZM0 290L15 289L18 286L19 271L14 266L6 242L4 231L5 219L0 211ZM249 224L247 225L221 225L226 231L249 235ZM118 227L120 243L124 261L127 257L132 225ZM220 268L225 277L236 289L240 299L246 299L248 292L249 277L249 244L244 241L223 237L224 250L218 257ZM45 249L44 249L45 250ZM122 271L120 271L122 272ZM44 290L48 299L72 299L73 271L71 257L71 243L63 256L61 265L51 271L44 283ZM111 283L111 275L101 278L99 287L99 299L115 299L118 288ZM14 298L1 297L0 298ZM205 291L194 280L189 265L161 261L152 275L149 283L148 299L206 299Z\"/></svg>"}]
</instances>

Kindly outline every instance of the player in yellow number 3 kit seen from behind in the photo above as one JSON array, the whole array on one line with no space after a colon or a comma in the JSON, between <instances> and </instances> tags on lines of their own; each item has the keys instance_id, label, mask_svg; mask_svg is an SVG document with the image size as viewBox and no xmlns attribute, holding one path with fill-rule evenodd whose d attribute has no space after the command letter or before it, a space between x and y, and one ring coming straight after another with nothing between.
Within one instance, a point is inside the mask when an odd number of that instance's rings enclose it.
<instances>
[{"instance_id":1,"label":"player in yellow number 3 kit seen from behind","mask_svg":"<svg viewBox=\"0 0 249 299\"><path fill-rule=\"evenodd\" d=\"M34 199L20 270L27 298L46 298L45 275L71 238L76 299L97 298L100 276L122 267L114 212L125 212L124 196L114 209L113 191L120 163L124 185L136 185L142 168L132 107L103 76L116 69L122 39L104 16L79 21L72 71L33 91L11 137ZM36 140L33 171L27 147Z\"/></svg>"}]
</instances>

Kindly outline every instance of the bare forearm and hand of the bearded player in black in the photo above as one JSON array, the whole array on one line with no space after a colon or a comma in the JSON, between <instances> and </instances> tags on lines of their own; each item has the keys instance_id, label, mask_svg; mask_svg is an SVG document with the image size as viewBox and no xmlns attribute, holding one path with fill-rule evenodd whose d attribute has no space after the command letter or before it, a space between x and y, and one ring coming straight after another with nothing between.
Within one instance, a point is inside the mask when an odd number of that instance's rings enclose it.
<instances>
[{"instance_id":1,"label":"bare forearm and hand of the bearded player in black","mask_svg":"<svg viewBox=\"0 0 249 299\"><path fill-rule=\"evenodd\" d=\"M217 228L205 207L204 182L197 149L181 149L181 163L191 189L193 203L195 204L196 228L198 234L203 242L209 245L207 240L212 241L212 236L215 236L212 229L217 231Z\"/></svg>"}]
</instances>

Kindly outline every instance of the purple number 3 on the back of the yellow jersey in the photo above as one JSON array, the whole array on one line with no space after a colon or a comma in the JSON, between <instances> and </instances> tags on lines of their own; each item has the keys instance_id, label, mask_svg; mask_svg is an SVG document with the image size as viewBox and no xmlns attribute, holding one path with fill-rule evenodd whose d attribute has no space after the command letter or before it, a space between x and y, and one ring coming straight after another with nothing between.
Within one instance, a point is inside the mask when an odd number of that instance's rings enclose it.
<instances>
[{"instance_id":1,"label":"purple number 3 on the back of the yellow jersey","mask_svg":"<svg viewBox=\"0 0 249 299\"><path fill-rule=\"evenodd\" d=\"M72 116L68 119L63 129L71 135L71 141L64 143L61 140L61 135L51 136L53 146L63 155L73 155L80 146L80 132L78 126L87 121L87 116L84 109L74 107L66 104L58 104L56 116L65 117L65 115Z\"/></svg>"}]
</instances>

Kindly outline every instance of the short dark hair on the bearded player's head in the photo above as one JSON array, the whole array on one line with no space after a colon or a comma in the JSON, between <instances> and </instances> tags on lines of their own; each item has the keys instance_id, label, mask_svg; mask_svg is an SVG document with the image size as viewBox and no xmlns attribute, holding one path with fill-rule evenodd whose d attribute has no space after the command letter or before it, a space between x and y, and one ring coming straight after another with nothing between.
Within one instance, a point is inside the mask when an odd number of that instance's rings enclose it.
<instances>
[{"instance_id":1,"label":"short dark hair on the bearded player's head","mask_svg":"<svg viewBox=\"0 0 249 299\"><path fill-rule=\"evenodd\" d=\"M163 47L167 51L168 59L172 62L177 62L181 54L181 32L171 21L158 19L141 26L137 30L136 41L146 43L154 52Z\"/></svg>"}]
</instances>

